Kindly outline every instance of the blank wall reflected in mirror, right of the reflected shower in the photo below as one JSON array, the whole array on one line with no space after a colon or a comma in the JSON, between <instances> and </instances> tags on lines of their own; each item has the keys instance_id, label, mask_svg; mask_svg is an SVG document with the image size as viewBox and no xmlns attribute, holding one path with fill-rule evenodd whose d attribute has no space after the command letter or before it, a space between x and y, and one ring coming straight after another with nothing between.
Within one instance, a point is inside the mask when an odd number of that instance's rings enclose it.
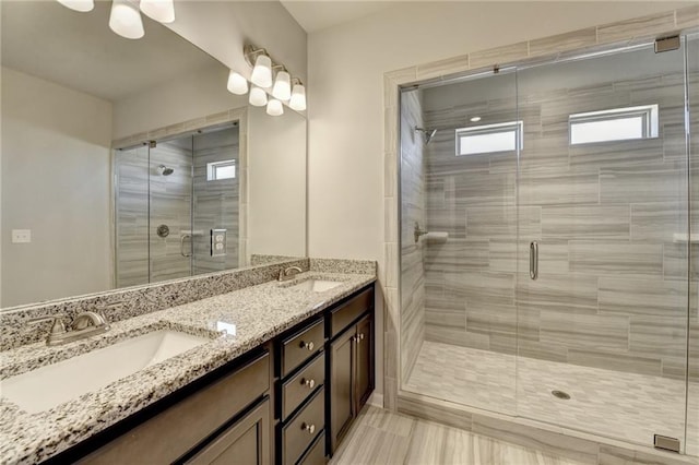
<instances>
[{"instance_id":1,"label":"blank wall reflected in mirror, right of the reflected shower","mask_svg":"<svg viewBox=\"0 0 699 465\"><path fill-rule=\"evenodd\" d=\"M306 118L248 118L248 253L306 255Z\"/></svg>"}]
</instances>

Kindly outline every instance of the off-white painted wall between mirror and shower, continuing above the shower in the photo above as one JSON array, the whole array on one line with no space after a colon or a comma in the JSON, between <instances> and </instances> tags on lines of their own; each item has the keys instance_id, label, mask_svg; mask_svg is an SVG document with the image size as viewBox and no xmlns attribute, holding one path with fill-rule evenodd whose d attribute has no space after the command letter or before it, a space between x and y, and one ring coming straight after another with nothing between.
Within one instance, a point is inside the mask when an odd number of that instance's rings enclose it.
<instances>
[{"instance_id":1,"label":"off-white painted wall between mirror and shower, continuing above the shower","mask_svg":"<svg viewBox=\"0 0 699 465\"><path fill-rule=\"evenodd\" d=\"M309 254L383 265L384 72L688 4L402 2L310 34Z\"/></svg>"}]
</instances>

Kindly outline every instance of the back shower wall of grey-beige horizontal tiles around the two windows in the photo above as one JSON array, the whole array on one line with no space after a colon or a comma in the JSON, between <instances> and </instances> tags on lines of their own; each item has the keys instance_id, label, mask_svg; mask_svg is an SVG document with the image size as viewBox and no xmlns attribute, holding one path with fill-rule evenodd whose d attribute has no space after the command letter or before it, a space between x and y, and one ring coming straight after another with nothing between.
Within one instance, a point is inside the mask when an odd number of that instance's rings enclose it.
<instances>
[{"instance_id":1,"label":"back shower wall of grey-beige horizontal tiles around the two windows","mask_svg":"<svg viewBox=\"0 0 699 465\"><path fill-rule=\"evenodd\" d=\"M688 206L682 75L538 92L544 79L518 78L519 242L517 154L454 156L454 128L475 114L479 124L512 120L511 102L476 92L482 99L466 105L463 86L437 109L426 91L426 124L440 129L427 152L427 223L450 233L427 248L426 339L684 377L688 251L674 240ZM651 103L660 138L569 146L570 114ZM536 282L531 240L540 242ZM697 307L689 311L696 320Z\"/></svg>"}]
</instances>

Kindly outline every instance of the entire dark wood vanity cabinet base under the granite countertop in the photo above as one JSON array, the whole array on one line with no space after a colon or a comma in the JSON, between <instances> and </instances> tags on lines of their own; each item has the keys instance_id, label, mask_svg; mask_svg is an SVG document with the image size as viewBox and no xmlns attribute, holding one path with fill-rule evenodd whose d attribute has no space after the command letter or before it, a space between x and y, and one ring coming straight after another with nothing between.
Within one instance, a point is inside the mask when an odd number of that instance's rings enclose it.
<instances>
[{"instance_id":1,"label":"entire dark wood vanity cabinet base under the granite countertop","mask_svg":"<svg viewBox=\"0 0 699 465\"><path fill-rule=\"evenodd\" d=\"M375 385L374 285L50 458L325 464Z\"/></svg>"}]
</instances>

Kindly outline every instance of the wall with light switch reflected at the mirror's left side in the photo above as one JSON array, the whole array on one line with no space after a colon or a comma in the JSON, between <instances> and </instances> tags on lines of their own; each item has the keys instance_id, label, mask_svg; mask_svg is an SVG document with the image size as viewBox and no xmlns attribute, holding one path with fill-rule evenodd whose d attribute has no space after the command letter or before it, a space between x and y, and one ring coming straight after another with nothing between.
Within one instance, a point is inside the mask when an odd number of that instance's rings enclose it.
<instances>
[{"instance_id":1,"label":"wall with light switch reflected at the mirror's left side","mask_svg":"<svg viewBox=\"0 0 699 465\"><path fill-rule=\"evenodd\" d=\"M1 131L0 307L111 288L111 104L2 68Z\"/></svg>"}]
</instances>

